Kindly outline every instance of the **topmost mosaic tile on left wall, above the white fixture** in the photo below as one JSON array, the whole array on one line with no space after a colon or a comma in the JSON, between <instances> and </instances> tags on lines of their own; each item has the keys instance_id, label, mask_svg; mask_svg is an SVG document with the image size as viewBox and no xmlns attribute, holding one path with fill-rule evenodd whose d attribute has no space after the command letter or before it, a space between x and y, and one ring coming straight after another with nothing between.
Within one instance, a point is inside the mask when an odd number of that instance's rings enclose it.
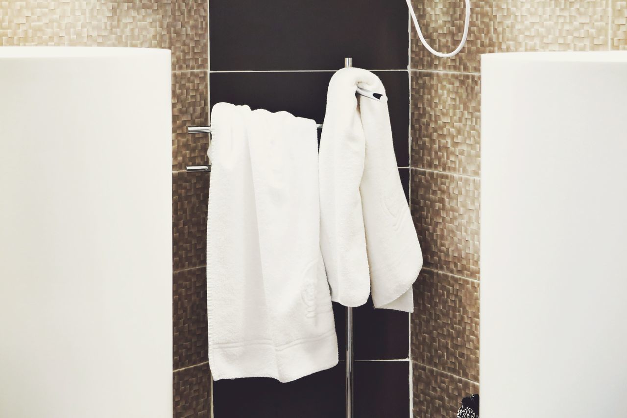
<instances>
[{"instance_id":1,"label":"topmost mosaic tile on left wall, above the white fixture","mask_svg":"<svg viewBox=\"0 0 627 418\"><path fill-rule=\"evenodd\" d=\"M172 50L173 70L207 70L206 0L0 1L0 46Z\"/></svg>"}]
</instances>

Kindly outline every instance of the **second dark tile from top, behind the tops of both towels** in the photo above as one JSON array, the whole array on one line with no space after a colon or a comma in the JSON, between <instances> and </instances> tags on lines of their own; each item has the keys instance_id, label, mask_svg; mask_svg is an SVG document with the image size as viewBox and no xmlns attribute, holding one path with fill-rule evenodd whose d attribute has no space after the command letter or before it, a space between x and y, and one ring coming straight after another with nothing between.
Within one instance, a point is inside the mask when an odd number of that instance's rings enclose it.
<instances>
[{"instance_id":1,"label":"second dark tile from top, behind the tops of both towels","mask_svg":"<svg viewBox=\"0 0 627 418\"><path fill-rule=\"evenodd\" d=\"M407 71L375 71L386 88L394 152L399 167L409 165L409 82ZM282 110L324 122L327 88L333 73L212 73L211 105L228 102Z\"/></svg>"}]
</instances>

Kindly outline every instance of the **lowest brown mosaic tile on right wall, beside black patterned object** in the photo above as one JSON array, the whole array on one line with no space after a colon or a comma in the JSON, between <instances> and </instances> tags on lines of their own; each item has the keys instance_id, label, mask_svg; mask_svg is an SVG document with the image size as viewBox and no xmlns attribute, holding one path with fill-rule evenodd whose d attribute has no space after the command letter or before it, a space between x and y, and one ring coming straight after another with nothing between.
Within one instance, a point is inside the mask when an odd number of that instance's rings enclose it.
<instances>
[{"instance_id":1,"label":"lowest brown mosaic tile on right wall, beside black patterned object","mask_svg":"<svg viewBox=\"0 0 627 418\"><path fill-rule=\"evenodd\" d=\"M479 385L470 380L413 363L414 418L455 417L461 400L479 393Z\"/></svg>"}]
</instances>

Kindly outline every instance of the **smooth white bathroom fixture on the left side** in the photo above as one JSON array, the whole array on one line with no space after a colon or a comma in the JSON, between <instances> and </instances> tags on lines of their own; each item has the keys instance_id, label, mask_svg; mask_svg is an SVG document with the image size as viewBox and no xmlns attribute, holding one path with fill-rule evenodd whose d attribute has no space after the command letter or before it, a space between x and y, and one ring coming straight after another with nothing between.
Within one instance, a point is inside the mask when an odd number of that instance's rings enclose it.
<instances>
[{"instance_id":1,"label":"smooth white bathroom fixture on the left side","mask_svg":"<svg viewBox=\"0 0 627 418\"><path fill-rule=\"evenodd\" d=\"M0 416L172 416L167 50L0 48Z\"/></svg>"}]
</instances>

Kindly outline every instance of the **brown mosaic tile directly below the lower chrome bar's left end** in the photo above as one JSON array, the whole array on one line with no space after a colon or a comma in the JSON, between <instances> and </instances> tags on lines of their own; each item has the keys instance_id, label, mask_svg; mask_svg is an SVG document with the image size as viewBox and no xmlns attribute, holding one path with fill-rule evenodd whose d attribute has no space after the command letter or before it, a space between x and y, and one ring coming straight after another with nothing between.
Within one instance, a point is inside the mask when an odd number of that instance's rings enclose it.
<instances>
[{"instance_id":1,"label":"brown mosaic tile directly below the lower chrome bar's left end","mask_svg":"<svg viewBox=\"0 0 627 418\"><path fill-rule=\"evenodd\" d=\"M174 271L206 263L208 197L209 173L172 173Z\"/></svg>"}]
</instances>

